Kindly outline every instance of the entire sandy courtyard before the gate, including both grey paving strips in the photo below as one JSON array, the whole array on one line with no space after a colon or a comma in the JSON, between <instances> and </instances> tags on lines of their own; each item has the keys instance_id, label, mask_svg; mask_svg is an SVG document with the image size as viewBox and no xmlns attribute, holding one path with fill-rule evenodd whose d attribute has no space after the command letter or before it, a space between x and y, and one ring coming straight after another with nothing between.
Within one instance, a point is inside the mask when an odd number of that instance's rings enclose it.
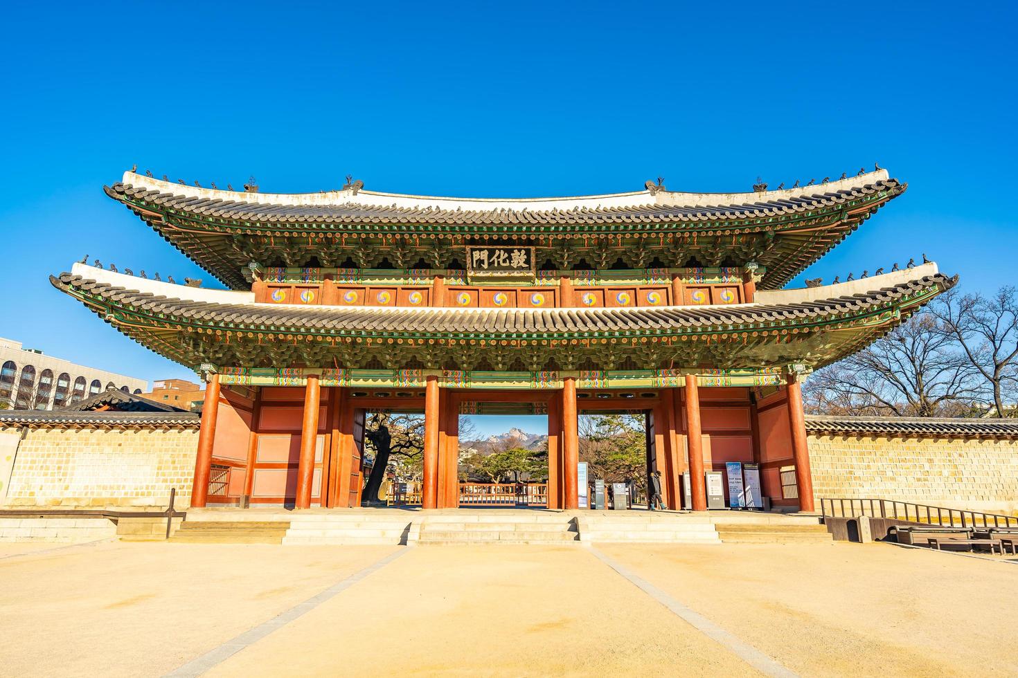
<instances>
[{"instance_id":1,"label":"entire sandy courtyard before the gate, including both grey paving strips","mask_svg":"<svg viewBox=\"0 0 1018 678\"><path fill-rule=\"evenodd\" d=\"M1016 564L883 544L19 546L3 676L1018 674Z\"/></svg>"}]
</instances>

